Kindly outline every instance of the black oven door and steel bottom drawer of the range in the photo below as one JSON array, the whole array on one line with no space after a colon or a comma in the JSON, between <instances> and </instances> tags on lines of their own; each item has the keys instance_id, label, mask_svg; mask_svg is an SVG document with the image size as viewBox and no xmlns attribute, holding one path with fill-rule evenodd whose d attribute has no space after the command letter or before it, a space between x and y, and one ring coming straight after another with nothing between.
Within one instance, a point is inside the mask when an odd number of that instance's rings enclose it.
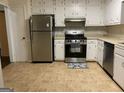
<instances>
[{"instance_id":1,"label":"black oven door and steel bottom drawer of the range","mask_svg":"<svg viewBox=\"0 0 124 93\"><path fill-rule=\"evenodd\" d=\"M66 62L86 62L86 44L66 44L65 58Z\"/></svg>"}]
</instances>

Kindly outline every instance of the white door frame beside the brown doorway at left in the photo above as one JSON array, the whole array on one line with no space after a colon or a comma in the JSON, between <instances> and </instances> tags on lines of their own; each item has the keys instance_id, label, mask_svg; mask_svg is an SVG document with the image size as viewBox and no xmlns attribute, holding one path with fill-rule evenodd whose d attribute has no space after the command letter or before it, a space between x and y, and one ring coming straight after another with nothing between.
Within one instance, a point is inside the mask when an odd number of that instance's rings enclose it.
<instances>
[{"instance_id":1,"label":"white door frame beside the brown doorway at left","mask_svg":"<svg viewBox=\"0 0 124 93\"><path fill-rule=\"evenodd\" d=\"M16 20L16 14L11 11L8 7L5 7L5 17L6 17L6 28L7 28L7 36L8 36L8 45L9 45L9 55L10 61L14 62L16 59L16 52L15 52L15 38L14 32L16 32L16 26L14 27L14 21Z\"/></svg>"}]
</instances>

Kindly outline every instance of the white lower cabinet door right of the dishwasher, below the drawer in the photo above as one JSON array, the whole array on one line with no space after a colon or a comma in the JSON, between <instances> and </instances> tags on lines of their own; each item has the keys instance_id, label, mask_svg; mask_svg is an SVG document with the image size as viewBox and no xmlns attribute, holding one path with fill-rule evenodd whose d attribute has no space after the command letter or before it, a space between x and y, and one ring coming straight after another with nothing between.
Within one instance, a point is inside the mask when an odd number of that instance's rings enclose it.
<instances>
[{"instance_id":1,"label":"white lower cabinet door right of the dishwasher, below the drawer","mask_svg":"<svg viewBox=\"0 0 124 93\"><path fill-rule=\"evenodd\" d=\"M114 80L124 89L124 57L115 54Z\"/></svg>"}]
</instances>

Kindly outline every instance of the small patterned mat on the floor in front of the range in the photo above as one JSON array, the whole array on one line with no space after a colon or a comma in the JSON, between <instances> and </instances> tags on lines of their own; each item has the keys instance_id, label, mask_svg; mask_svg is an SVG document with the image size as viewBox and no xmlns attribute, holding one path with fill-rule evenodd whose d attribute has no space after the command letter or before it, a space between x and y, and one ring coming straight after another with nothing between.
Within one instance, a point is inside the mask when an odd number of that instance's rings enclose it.
<instances>
[{"instance_id":1,"label":"small patterned mat on the floor in front of the range","mask_svg":"<svg viewBox=\"0 0 124 93\"><path fill-rule=\"evenodd\" d=\"M67 64L69 69L87 69L87 63L68 63Z\"/></svg>"}]
</instances>

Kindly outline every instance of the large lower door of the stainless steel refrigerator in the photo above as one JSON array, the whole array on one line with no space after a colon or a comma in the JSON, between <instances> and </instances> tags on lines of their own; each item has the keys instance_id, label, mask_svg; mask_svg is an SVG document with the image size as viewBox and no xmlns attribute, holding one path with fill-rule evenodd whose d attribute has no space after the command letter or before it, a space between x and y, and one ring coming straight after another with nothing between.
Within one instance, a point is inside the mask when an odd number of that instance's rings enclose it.
<instances>
[{"instance_id":1,"label":"large lower door of the stainless steel refrigerator","mask_svg":"<svg viewBox=\"0 0 124 93\"><path fill-rule=\"evenodd\" d=\"M34 32L32 35L32 59L38 61L53 61L52 33Z\"/></svg>"}]
</instances>

